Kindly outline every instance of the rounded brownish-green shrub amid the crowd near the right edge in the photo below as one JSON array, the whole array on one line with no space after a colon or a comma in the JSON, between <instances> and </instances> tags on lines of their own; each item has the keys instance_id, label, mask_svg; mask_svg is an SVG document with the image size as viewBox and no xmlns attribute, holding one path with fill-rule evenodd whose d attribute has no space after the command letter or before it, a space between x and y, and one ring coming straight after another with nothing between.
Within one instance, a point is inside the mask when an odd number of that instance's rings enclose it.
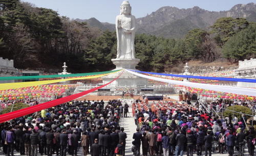
<instances>
[{"instance_id":1,"label":"rounded brownish-green shrub amid the crowd near the right edge","mask_svg":"<svg viewBox=\"0 0 256 156\"><path fill-rule=\"evenodd\" d=\"M234 107L234 110L233 110ZM228 111L231 110L231 111ZM235 111L235 112L232 112ZM226 108L226 111L224 112L225 116L229 116L229 115L237 115L238 119L241 118L242 114L241 113L236 113L236 112L242 112L243 114L251 114L251 110L248 107L245 106L239 106L239 105L234 105L234 106L230 106L228 108ZM249 119L251 116L246 116L247 119Z\"/></svg>"}]
</instances>

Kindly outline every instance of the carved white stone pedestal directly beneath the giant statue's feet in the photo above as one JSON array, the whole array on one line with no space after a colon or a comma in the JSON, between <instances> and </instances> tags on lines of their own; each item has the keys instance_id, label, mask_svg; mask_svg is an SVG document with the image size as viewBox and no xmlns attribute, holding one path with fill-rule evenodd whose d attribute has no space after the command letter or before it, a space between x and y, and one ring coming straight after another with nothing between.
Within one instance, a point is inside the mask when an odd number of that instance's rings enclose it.
<instances>
[{"instance_id":1,"label":"carved white stone pedestal directly beneath the giant statue's feet","mask_svg":"<svg viewBox=\"0 0 256 156\"><path fill-rule=\"evenodd\" d=\"M116 69L132 69L136 70L135 66L140 62L140 59L111 59Z\"/></svg>"}]
</instances>

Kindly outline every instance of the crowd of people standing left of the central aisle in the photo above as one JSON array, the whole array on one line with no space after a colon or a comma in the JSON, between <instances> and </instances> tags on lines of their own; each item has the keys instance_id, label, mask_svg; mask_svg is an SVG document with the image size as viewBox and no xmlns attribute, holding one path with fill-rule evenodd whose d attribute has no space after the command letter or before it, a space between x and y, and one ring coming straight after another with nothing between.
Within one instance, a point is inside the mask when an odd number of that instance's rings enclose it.
<instances>
[{"instance_id":1,"label":"crowd of people standing left of the central aisle","mask_svg":"<svg viewBox=\"0 0 256 156\"><path fill-rule=\"evenodd\" d=\"M0 124L1 146L6 156L20 155L92 156L123 155L124 128L120 117L127 117L129 106L120 100L70 101L42 110L39 115L15 118ZM38 149L37 149L38 147Z\"/></svg>"}]
</instances>

